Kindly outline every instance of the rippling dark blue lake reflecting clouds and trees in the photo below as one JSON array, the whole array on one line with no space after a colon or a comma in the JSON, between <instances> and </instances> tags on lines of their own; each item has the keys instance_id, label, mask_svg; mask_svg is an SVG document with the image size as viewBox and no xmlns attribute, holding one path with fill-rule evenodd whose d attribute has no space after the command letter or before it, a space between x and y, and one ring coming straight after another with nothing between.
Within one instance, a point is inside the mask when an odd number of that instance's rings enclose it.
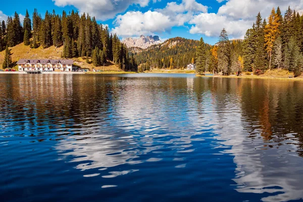
<instances>
[{"instance_id":1,"label":"rippling dark blue lake reflecting clouds and trees","mask_svg":"<svg viewBox=\"0 0 303 202\"><path fill-rule=\"evenodd\" d=\"M303 82L0 74L1 201L303 197Z\"/></svg>"}]
</instances>

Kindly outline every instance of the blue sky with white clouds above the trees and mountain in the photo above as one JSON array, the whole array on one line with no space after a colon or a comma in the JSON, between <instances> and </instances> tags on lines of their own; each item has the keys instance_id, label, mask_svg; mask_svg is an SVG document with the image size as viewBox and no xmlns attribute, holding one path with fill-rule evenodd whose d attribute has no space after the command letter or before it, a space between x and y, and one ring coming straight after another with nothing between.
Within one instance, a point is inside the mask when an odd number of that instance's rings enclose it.
<instances>
[{"instance_id":1,"label":"blue sky with white clouds above the trees and mountain","mask_svg":"<svg viewBox=\"0 0 303 202\"><path fill-rule=\"evenodd\" d=\"M290 6L302 14L303 0L15 0L14 5L2 2L0 20L6 21L15 11L23 20L26 9L32 15L36 8L42 16L46 10L75 10L95 16L121 39L141 34L158 35L163 41L176 36L203 37L215 44L223 28L230 39L243 38L258 12L267 18L278 6L282 13Z\"/></svg>"}]
</instances>

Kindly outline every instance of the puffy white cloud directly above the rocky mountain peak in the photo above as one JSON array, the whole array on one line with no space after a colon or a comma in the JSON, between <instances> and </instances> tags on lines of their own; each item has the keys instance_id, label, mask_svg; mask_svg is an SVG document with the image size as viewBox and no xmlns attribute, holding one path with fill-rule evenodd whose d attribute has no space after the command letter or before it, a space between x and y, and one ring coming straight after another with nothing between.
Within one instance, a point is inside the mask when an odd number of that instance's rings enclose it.
<instances>
[{"instance_id":1,"label":"puffy white cloud directly above the rocky mountain peak","mask_svg":"<svg viewBox=\"0 0 303 202\"><path fill-rule=\"evenodd\" d=\"M168 3L164 9L145 13L127 12L117 16L115 28L112 30L119 36L138 36L170 31L173 26L183 26L193 15L207 12L208 7L195 0L182 0L180 4Z\"/></svg>"}]
</instances>

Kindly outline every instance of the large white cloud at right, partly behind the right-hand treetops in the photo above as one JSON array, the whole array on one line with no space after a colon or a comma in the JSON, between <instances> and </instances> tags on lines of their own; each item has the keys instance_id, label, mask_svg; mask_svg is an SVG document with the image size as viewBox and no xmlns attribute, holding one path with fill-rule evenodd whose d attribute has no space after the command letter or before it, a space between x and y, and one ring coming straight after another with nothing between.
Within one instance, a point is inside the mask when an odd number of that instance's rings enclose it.
<instances>
[{"instance_id":1,"label":"large white cloud at right, partly behind the right-hand treetops","mask_svg":"<svg viewBox=\"0 0 303 202\"><path fill-rule=\"evenodd\" d=\"M223 1L218 1L223 2ZM254 23L258 12L263 18L269 16L273 7L280 6L282 13L288 6L301 11L303 0L229 0L222 5L218 13L206 13L193 16L190 33L218 36L225 28L231 38L243 38L246 30Z\"/></svg>"}]
</instances>

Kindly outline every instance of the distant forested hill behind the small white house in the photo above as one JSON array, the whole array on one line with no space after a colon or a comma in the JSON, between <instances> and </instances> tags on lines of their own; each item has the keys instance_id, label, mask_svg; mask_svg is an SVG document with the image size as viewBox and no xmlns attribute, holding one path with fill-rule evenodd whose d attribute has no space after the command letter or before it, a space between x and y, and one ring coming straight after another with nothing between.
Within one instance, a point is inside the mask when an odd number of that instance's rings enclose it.
<instances>
[{"instance_id":1,"label":"distant forested hill behind the small white house","mask_svg":"<svg viewBox=\"0 0 303 202\"><path fill-rule=\"evenodd\" d=\"M194 62L197 40L175 37L134 53L140 71L150 68L181 69Z\"/></svg>"}]
</instances>

